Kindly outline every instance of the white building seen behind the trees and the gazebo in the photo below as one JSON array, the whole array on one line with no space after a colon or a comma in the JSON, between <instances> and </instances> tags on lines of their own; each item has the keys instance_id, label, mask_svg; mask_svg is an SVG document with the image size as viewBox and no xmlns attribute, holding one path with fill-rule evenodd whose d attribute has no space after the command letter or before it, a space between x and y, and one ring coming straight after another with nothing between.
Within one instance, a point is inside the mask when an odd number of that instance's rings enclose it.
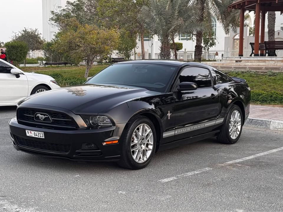
<instances>
[{"instance_id":1,"label":"white building seen behind the trees and the gazebo","mask_svg":"<svg viewBox=\"0 0 283 212\"><path fill-rule=\"evenodd\" d=\"M43 37L50 41L54 34L58 31L57 28L51 27L49 23L49 19L51 17L50 11L57 10L58 7L64 7L66 5L67 0L42 0L42 25L43 25ZM74 0L71 0L74 1ZM253 26L254 22L254 12L250 12L250 18L249 18L249 25ZM266 15L266 21L265 21L265 31L266 31L266 37L265 40L267 40L267 15ZM231 32L230 34L226 35L222 29L221 24L216 21L215 18L212 19L211 22L214 33L216 36L216 45L215 47L210 48L210 52L218 51L219 56L221 54L224 54L226 56L237 56L238 55L238 33ZM246 50L246 54L250 50L250 42L254 42L254 37L249 36L249 27L244 27L244 50ZM278 31L279 30L279 31ZM282 39L283 40L283 16L280 15L280 12L276 12L276 24L275 24L275 31L276 32L276 40ZM181 42L183 43L183 49L181 51L186 51L189 54L186 54L187 57L184 59L193 59L193 51L195 49L195 38L190 38L189 35L180 34L176 39L175 42ZM159 58L159 47L160 42L158 39L158 36L154 36L153 39L144 37L144 49L146 52L146 58L147 59L157 59ZM141 58L141 42L140 39L137 41L137 48L136 48L136 59ZM235 55L227 55L227 54L235 54ZM115 55L115 54L113 54ZM114 56L113 56L114 57ZM182 54L179 54L179 57L182 57ZM180 59L179 58L179 59ZM134 59L134 57L132 57Z\"/></svg>"}]
</instances>

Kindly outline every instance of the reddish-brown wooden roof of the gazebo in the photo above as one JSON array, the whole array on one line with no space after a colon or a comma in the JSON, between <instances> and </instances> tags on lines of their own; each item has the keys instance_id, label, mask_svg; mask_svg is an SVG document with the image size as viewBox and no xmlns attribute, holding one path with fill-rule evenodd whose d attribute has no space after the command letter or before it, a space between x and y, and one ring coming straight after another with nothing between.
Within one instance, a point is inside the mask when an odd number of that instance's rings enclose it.
<instances>
[{"instance_id":1,"label":"reddish-brown wooden roof of the gazebo","mask_svg":"<svg viewBox=\"0 0 283 212\"><path fill-rule=\"evenodd\" d=\"M255 11L256 3L260 3L265 11L283 11L283 0L238 0L228 6L228 10L241 9Z\"/></svg>"}]
</instances>

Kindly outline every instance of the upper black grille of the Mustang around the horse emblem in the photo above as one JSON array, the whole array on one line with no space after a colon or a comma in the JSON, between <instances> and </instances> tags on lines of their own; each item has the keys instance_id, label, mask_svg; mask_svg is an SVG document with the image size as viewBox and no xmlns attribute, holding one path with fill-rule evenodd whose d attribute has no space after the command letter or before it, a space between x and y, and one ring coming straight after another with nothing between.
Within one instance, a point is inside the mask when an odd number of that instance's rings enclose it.
<instances>
[{"instance_id":1,"label":"upper black grille of the Mustang around the horse emblem","mask_svg":"<svg viewBox=\"0 0 283 212\"><path fill-rule=\"evenodd\" d=\"M52 122L34 120L34 115L36 113L48 114ZM75 120L73 120L73 118L70 117L69 115L62 113L62 112L51 111L51 110L19 108L17 111L17 118L19 121L40 123L42 125L57 125L57 126L64 126L64 127L76 127L77 126Z\"/></svg>"}]
</instances>

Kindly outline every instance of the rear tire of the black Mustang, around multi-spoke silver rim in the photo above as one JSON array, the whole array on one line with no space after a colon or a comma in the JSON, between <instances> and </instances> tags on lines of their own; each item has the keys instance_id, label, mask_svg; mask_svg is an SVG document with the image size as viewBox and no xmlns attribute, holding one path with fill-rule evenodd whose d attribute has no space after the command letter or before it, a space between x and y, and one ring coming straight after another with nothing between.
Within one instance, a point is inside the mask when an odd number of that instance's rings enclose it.
<instances>
[{"instance_id":1,"label":"rear tire of the black Mustang, around multi-spoke silver rim","mask_svg":"<svg viewBox=\"0 0 283 212\"><path fill-rule=\"evenodd\" d=\"M235 129L237 128L236 129L236 133L233 136L233 133L232 133L232 135L230 135L229 129L231 129L230 128L231 126L229 126L229 124L230 124L231 115L232 114L235 115L235 111L236 111L236 114L237 114L237 112L239 113L238 117L241 117L241 123L239 125L239 122L235 121L236 123L233 122L233 124L231 122L232 128L234 126L236 126ZM238 129L238 126L241 127L241 128ZM217 135L217 140L220 143L234 144L234 143L236 143L239 140L239 138L241 136L241 133L242 133L242 128L243 128L243 114L242 114L242 111L241 111L241 109L240 109L240 107L238 105L232 105L231 108L228 111L228 114L227 114L225 120L224 120L224 124L221 127L221 131ZM235 136L236 136L236 138L235 138Z\"/></svg>"}]
</instances>

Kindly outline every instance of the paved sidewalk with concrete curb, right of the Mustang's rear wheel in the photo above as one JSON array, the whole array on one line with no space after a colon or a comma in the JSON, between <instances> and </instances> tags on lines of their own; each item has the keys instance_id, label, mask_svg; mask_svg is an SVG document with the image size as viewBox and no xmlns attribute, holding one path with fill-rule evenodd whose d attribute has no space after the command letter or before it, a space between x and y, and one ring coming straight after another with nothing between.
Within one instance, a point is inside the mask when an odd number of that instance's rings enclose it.
<instances>
[{"instance_id":1,"label":"paved sidewalk with concrete curb, right of the Mustang's rear wheel","mask_svg":"<svg viewBox=\"0 0 283 212\"><path fill-rule=\"evenodd\" d=\"M251 105L250 115L245 125L283 131L283 108Z\"/></svg>"}]
</instances>

